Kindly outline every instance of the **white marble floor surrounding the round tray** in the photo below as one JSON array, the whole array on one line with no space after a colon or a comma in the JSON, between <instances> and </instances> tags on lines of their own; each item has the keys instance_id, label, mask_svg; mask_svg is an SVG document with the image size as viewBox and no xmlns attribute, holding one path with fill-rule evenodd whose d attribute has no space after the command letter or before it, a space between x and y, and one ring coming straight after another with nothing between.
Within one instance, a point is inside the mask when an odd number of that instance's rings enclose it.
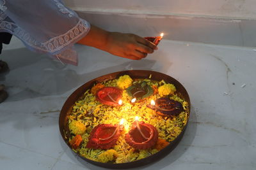
<instances>
[{"instance_id":1,"label":"white marble floor surrounding the round tray","mask_svg":"<svg viewBox=\"0 0 256 170\"><path fill-rule=\"evenodd\" d=\"M179 146L143 169L255 169L256 52L250 48L161 41L133 61L76 45L79 66L62 66L12 42L1 59L10 97L0 104L0 169L100 169L77 159L58 129L67 97L103 74L148 69L179 80L192 111ZM241 85L246 84L245 87Z\"/></svg>"}]
</instances>

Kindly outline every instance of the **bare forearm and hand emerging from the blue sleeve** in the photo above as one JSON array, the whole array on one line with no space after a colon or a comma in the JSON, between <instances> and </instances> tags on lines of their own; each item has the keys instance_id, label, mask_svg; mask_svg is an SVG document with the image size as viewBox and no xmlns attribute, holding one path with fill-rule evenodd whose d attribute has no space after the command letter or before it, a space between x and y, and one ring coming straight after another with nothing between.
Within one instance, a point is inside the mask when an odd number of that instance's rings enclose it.
<instances>
[{"instance_id":1,"label":"bare forearm and hand emerging from the blue sleeve","mask_svg":"<svg viewBox=\"0 0 256 170\"><path fill-rule=\"evenodd\" d=\"M88 34L77 43L93 46L113 55L140 60L157 50L157 46L135 34L108 32L91 25Z\"/></svg>"}]
</instances>

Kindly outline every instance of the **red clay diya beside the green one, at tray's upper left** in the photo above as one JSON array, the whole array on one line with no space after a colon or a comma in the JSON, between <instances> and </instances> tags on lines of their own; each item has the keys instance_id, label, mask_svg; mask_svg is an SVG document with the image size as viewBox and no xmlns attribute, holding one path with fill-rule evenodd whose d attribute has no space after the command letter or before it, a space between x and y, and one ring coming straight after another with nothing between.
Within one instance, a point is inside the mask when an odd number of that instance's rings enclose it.
<instances>
[{"instance_id":1,"label":"red clay diya beside the green one, at tray's upper left","mask_svg":"<svg viewBox=\"0 0 256 170\"><path fill-rule=\"evenodd\" d=\"M122 90L117 87L103 87L96 93L96 99L108 106L120 106L122 104Z\"/></svg>"}]
</instances>

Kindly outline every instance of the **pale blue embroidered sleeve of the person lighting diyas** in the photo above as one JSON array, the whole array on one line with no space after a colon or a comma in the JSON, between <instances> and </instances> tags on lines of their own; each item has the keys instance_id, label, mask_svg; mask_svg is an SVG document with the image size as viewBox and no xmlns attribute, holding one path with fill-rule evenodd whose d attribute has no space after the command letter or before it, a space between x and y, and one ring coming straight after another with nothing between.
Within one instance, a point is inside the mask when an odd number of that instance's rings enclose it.
<instances>
[{"instance_id":1,"label":"pale blue embroidered sleeve of the person lighting diyas","mask_svg":"<svg viewBox=\"0 0 256 170\"><path fill-rule=\"evenodd\" d=\"M74 43L90 31L90 24L61 0L0 0L0 32L17 36L35 52L77 64Z\"/></svg>"}]
</instances>

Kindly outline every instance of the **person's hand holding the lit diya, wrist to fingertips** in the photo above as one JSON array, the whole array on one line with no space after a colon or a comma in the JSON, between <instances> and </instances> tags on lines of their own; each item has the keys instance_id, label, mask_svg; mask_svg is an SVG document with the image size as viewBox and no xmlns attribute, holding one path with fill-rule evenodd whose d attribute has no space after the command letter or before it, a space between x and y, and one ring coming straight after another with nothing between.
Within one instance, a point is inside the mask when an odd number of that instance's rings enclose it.
<instances>
[{"instance_id":1,"label":"person's hand holding the lit diya, wrist to fingertips","mask_svg":"<svg viewBox=\"0 0 256 170\"><path fill-rule=\"evenodd\" d=\"M119 57L140 60L147 57L148 53L157 50L157 46L135 34L109 32L104 50Z\"/></svg>"}]
</instances>

